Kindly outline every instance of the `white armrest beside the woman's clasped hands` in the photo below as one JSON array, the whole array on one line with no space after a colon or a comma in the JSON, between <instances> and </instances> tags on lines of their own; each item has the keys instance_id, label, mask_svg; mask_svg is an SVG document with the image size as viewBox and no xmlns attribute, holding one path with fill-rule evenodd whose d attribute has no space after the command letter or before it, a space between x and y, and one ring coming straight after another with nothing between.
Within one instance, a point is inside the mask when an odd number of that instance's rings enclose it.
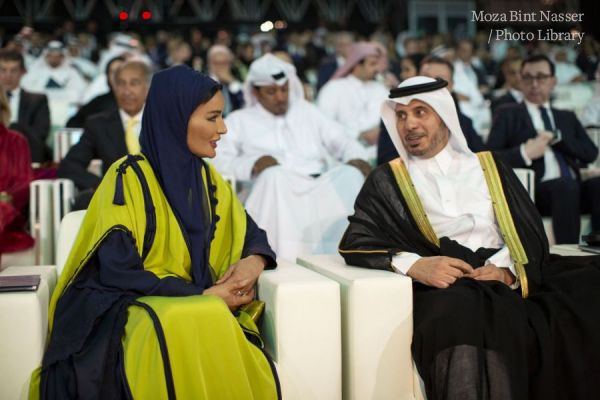
<instances>
[{"instance_id":1,"label":"white armrest beside the woman's clasped hands","mask_svg":"<svg viewBox=\"0 0 600 400\"><path fill-rule=\"evenodd\" d=\"M262 334L277 363L283 398L341 400L339 285L278 261L258 283L266 302Z\"/></svg>"}]
</instances>

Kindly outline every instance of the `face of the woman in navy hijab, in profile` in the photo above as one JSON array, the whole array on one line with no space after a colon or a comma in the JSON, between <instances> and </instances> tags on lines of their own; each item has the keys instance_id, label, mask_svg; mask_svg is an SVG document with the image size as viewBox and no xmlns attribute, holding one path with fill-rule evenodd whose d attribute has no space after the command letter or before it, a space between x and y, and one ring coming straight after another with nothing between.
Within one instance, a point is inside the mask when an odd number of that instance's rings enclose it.
<instances>
[{"instance_id":1,"label":"face of the woman in navy hijab, in profile","mask_svg":"<svg viewBox=\"0 0 600 400\"><path fill-rule=\"evenodd\" d=\"M227 133L223 121L223 93L218 91L212 99L200 104L188 121L187 144L198 157L213 158L217 155L217 142Z\"/></svg>"}]
</instances>

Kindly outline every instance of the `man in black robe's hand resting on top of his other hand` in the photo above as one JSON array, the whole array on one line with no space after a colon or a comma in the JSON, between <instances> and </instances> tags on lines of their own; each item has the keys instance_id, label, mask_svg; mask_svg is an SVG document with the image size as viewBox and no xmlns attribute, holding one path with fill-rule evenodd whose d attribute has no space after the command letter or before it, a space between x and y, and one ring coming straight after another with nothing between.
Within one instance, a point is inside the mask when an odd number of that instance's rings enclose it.
<instances>
[{"instance_id":1,"label":"man in black robe's hand resting on top of his other hand","mask_svg":"<svg viewBox=\"0 0 600 400\"><path fill-rule=\"evenodd\" d=\"M447 288L458 278L473 272L473 267L452 257L423 257L407 271L407 275L427 286Z\"/></svg>"}]
</instances>

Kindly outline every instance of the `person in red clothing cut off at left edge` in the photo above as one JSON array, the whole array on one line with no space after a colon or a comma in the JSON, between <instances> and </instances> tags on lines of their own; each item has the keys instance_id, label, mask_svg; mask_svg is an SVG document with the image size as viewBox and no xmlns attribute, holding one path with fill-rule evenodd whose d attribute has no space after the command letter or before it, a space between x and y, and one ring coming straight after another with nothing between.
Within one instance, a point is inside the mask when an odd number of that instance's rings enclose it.
<instances>
[{"instance_id":1,"label":"person in red clothing cut off at left edge","mask_svg":"<svg viewBox=\"0 0 600 400\"><path fill-rule=\"evenodd\" d=\"M25 136L6 127L9 121L10 106L0 90L0 257L33 246L22 213L33 180L29 144Z\"/></svg>"}]
</instances>

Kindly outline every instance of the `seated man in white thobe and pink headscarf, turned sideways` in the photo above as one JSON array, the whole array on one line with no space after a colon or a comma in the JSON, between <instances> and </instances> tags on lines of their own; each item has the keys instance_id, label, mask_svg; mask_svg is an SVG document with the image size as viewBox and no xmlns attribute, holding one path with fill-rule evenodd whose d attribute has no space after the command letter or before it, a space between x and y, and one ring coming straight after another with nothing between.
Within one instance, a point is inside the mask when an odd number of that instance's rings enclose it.
<instances>
[{"instance_id":1,"label":"seated man in white thobe and pink headscarf, turned sideways","mask_svg":"<svg viewBox=\"0 0 600 400\"><path fill-rule=\"evenodd\" d=\"M346 63L323 86L317 98L321 111L371 148L373 156L380 129L376 105L388 95L385 85L375 78L386 68L386 52L379 43L355 43L350 47Z\"/></svg>"}]
</instances>

